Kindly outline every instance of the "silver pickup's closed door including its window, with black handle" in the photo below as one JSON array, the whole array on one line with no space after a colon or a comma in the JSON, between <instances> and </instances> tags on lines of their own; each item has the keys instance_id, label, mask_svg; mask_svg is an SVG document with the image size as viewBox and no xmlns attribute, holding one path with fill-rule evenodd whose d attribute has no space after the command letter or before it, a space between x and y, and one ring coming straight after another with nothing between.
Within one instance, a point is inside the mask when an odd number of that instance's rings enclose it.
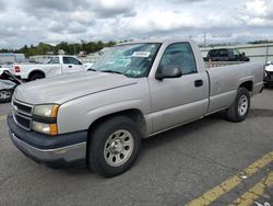
<instances>
[{"instance_id":1,"label":"silver pickup's closed door including its window, with black handle","mask_svg":"<svg viewBox=\"0 0 273 206\"><path fill-rule=\"evenodd\" d=\"M175 66L182 76L174 79L150 79L153 133L190 122L205 115L209 106L209 78L198 72L189 43L169 45L159 67Z\"/></svg>"}]
</instances>

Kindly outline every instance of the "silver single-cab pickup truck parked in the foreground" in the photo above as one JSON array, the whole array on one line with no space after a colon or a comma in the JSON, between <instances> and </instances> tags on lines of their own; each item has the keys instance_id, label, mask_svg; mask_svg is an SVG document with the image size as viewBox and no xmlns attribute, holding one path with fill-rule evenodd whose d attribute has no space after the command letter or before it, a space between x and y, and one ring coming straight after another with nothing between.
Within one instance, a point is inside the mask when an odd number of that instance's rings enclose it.
<instances>
[{"instance_id":1,"label":"silver single-cab pickup truck parked in the foreground","mask_svg":"<svg viewBox=\"0 0 273 206\"><path fill-rule=\"evenodd\" d=\"M17 87L8 124L13 144L37 162L86 163L109 178L133 164L142 138L218 111L244 121L262 88L262 64L205 69L192 41L131 42L92 71Z\"/></svg>"}]
</instances>

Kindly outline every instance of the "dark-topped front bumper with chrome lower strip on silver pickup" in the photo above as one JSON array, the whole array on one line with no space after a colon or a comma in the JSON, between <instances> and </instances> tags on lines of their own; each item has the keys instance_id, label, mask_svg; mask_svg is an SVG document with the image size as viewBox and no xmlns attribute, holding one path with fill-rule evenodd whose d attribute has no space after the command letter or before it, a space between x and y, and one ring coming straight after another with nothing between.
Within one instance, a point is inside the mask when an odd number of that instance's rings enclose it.
<instances>
[{"instance_id":1,"label":"dark-topped front bumper with chrome lower strip on silver pickup","mask_svg":"<svg viewBox=\"0 0 273 206\"><path fill-rule=\"evenodd\" d=\"M50 137L22 129L15 124L11 114L7 121L12 142L34 161L51 168L85 163L87 131Z\"/></svg>"}]
</instances>

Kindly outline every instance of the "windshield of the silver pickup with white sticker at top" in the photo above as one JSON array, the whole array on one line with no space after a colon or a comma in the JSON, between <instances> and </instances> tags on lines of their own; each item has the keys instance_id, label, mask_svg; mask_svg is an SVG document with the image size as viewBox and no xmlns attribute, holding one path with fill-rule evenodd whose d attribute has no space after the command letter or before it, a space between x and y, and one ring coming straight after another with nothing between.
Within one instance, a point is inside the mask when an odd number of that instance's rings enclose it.
<instances>
[{"instance_id":1,"label":"windshield of the silver pickup with white sticker at top","mask_svg":"<svg viewBox=\"0 0 273 206\"><path fill-rule=\"evenodd\" d=\"M146 77L161 44L130 44L107 50L92 70L121 73L131 78Z\"/></svg>"}]
</instances>

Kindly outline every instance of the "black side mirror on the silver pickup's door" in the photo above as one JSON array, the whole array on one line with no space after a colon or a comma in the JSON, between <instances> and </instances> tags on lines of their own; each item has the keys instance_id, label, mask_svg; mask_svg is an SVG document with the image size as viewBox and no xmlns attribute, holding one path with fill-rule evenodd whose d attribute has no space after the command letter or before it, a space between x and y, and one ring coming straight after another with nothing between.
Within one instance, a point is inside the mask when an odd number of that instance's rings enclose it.
<instances>
[{"instance_id":1,"label":"black side mirror on the silver pickup's door","mask_svg":"<svg viewBox=\"0 0 273 206\"><path fill-rule=\"evenodd\" d=\"M169 78L180 78L182 76L181 70L174 65L159 67L155 79L163 80Z\"/></svg>"}]
</instances>

